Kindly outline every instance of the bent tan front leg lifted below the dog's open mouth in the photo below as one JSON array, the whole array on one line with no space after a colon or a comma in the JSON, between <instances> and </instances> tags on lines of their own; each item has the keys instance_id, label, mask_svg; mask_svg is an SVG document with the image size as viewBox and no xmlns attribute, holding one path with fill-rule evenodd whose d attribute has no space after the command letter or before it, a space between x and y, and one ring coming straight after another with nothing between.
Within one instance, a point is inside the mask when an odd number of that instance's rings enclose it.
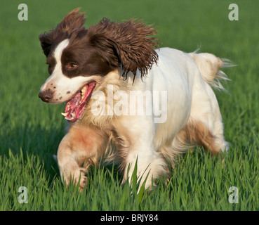
<instances>
[{"instance_id":1,"label":"bent tan front leg lifted below the dog's open mouth","mask_svg":"<svg viewBox=\"0 0 259 225\"><path fill-rule=\"evenodd\" d=\"M91 127L70 127L58 147L58 167L62 182L72 181L81 189L86 185L88 166L97 163L103 150L104 136Z\"/></svg>"}]
</instances>

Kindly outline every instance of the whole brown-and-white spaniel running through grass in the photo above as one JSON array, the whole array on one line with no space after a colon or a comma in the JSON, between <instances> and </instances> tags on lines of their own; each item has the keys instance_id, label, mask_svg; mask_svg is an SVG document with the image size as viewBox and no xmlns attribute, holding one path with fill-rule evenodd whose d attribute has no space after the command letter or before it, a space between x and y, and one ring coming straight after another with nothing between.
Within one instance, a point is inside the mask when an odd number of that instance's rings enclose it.
<instances>
[{"instance_id":1,"label":"whole brown-and-white spaniel running through grass","mask_svg":"<svg viewBox=\"0 0 259 225\"><path fill-rule=\"evenodd\" d=\"M39 36L50 75L39 98L66 102L67 134L58 146L63 183L84 188L88 167L107 155L124 172L122 182L131 182L136 164L148 189L191 146L211 155L228 149L212 89L223 89L224 60L159 49L157 31L140 20L103 18L88 29L85 20L77 8Z\"/></svg>"}]
</instances>

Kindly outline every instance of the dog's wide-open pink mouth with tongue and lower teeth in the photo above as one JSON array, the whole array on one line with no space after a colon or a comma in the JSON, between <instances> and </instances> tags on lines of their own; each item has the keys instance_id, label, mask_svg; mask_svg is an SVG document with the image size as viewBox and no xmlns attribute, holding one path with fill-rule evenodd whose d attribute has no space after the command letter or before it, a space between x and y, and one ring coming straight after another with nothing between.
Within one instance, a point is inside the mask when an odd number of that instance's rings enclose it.
<instances>
[{"instance_id":1,"label":"dog's wide-open pink mouth with tongue and lower teeth","mask_svg":"<svg viewBox=\"0 0 259 225\"><path fill-rule=\"evenodd\" d=\"M61 113L65 116L65 119L69 122L75 122L79 119L81 114L86 108L86 104L91 97L93 89L95 88L95 82L90 82L86 84L77 94L67 101L65 113Z\"/></svg>"}]
</instances>

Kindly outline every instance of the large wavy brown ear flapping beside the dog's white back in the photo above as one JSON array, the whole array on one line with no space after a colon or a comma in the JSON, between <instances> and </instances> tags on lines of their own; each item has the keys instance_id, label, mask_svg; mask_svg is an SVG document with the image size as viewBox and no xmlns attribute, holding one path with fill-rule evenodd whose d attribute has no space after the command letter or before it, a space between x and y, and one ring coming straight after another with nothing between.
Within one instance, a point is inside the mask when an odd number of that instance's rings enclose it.
<instances>
[{"instance_id":1,"label":"large wavy brown ear flapping beside the dog's white back","mask_svg":"<svg viewBox=\"0 0 259 225\"><path fill-rule=\"evenodd\" d=\"M107 18L89 27L87 32L91 43L102 51L108 63L121 65L123 76L133 72L134 78L137 70L142 78L157 63L158 55L153 48L158 46L158 39L150 37L154 34L157 31L142 22L114 23Z\"/></svg>"}]
</instances>

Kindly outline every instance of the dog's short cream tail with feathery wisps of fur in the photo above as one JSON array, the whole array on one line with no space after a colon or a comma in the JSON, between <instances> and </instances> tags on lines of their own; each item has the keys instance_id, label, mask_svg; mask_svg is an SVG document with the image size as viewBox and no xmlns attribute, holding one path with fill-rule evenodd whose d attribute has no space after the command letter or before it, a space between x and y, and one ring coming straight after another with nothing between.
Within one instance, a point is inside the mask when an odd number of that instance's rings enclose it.
<instances>
[{"instance_id":1,"label":"dog's short cream tail with feathery wisps of fur","mask_svg":"<svg viewBox=\"0 0 259 225\"><path fill-rule=\"evenodd\" d=\"M192 56L198 65L201 77L215 89L224 90L224 87L220 83L220 79L229 79L220 69L234 66L230 60L218 58L211 53L197 53L196 51L190 53L190 56Z\"/></svg>"}]
</instances>

